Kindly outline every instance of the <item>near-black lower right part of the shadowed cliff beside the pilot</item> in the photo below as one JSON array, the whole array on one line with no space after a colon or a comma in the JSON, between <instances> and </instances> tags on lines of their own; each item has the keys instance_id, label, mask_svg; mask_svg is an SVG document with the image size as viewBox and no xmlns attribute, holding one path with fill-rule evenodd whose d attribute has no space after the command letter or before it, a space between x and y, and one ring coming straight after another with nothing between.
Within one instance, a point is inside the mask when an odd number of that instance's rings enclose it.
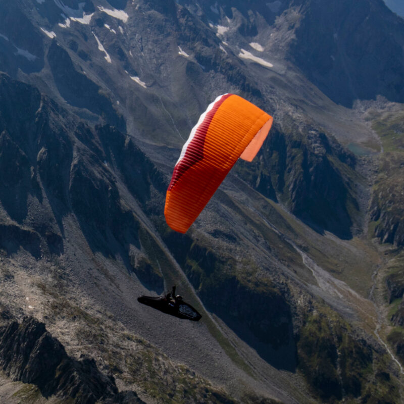
<instances>
[{"instance_id":1,"label":"near-black lower right part of the shadowed cliff beside the pilot","mask_svg":"<svg viewBox=\"0 0 404 404\"><path fill-rule=\"evenodd\" d=\"M216 281L215 275L222 276L223 280ZM208 309L264 360L278 369L295 370L292 314L284 291L272 288L265 281L258 287L236 276L214 273L199 288Z\"/></svg>"}]
</instances>

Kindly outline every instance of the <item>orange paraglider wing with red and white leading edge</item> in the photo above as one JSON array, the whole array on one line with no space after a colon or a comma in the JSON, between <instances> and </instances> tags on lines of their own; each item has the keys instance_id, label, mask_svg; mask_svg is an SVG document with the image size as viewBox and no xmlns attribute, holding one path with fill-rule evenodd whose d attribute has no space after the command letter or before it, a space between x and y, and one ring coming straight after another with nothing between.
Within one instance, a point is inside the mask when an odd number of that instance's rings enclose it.
<instances>
[{"instance_id":1,"label":"orange paraglider wing with red and white leading edge","mask_svg":"<svg viewBox=\"0 0 404 404\"><path fill-rule=\"evenodd\" d=\"M272 117L244 98L223 94L193 127L174 167L164 215L185 233L240 157L252 161L272 125Z\"/></svg>"}]
</instances>

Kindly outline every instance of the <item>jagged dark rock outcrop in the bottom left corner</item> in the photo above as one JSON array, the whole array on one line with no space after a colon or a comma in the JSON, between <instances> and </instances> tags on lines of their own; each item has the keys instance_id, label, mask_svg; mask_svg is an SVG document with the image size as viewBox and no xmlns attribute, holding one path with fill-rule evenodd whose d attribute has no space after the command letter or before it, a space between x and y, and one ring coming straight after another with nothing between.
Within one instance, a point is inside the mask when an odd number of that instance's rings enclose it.
<instances>
[{"instance_id":1,"label":"jagged dark rock outcrop in the bottom left corner","mask_svg":"<svg viewBox=\"0 0 404 404\"><path fill-rule=\"evenodd\" d=\"M103 375L94 360L68 357L63 345L32 317L0 328L0 365L12 380L35 384L44 397L94 404L107 398L127 402L123 398L130 395L130 402L143 402L134 392L118 394L114 378Z\"/></svg>"}]
</instances>

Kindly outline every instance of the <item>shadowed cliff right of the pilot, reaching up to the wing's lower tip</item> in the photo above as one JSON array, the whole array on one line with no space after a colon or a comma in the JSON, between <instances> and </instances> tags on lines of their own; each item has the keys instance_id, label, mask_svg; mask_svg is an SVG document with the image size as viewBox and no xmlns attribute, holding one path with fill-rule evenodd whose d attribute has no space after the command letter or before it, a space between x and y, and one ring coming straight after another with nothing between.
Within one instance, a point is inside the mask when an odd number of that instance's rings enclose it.
<instances>
[{"instance_id":1,"label":"shadowed cliff right of the pilot, reaching up to the wing's lower tip","mask_svg":"<svg viewBox=\"0 0 404 404\"><path fill-rule=\"evenodd\" d=\"M207 308L272 366L294 371L296 349L288 290L254 274L232 274L236 262L187 235L165 239Z\"/></svg>"}]
</instances>

